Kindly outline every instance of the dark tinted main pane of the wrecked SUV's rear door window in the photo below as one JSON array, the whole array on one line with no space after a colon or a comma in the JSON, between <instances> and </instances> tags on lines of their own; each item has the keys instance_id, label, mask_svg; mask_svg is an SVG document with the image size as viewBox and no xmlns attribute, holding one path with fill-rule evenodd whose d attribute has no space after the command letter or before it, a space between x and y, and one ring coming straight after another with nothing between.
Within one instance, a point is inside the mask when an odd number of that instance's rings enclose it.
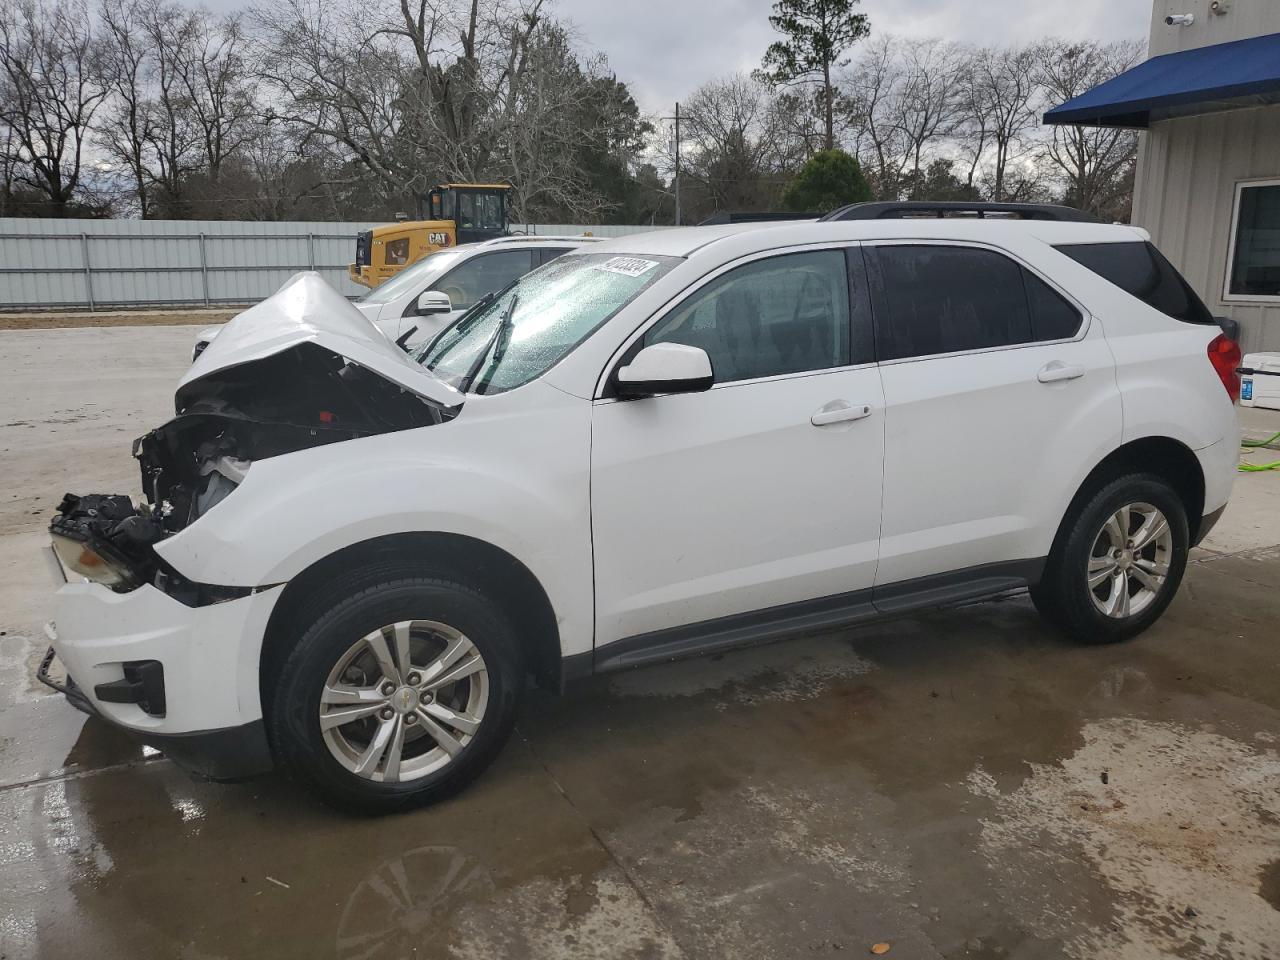
<instances>
[{"instance_id":1,"label":"dark tinted main pane of the wrecked SUV's rear door window","mask_svg":"<svg viewBox=\"0 0 1280 960\"><path fill-rule=\"evenodd\" d=\"M1005 347L1032 339L1023 268L989 250L868 248L881 360Z\"/></svg>"}]
</instances>

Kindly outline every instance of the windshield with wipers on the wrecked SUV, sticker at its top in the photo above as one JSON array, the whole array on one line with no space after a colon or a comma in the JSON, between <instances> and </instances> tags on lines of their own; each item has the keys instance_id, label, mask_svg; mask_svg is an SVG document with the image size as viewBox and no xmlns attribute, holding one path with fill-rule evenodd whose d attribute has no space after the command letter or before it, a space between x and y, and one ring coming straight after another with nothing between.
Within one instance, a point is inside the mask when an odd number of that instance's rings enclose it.
<instances>
[{"instance_id":1,"label":"windshield with wipers on the wrecked SUV, sticker at its top","mask_svg":"<svg viewBox=\"0 0 1280 960\"><path fill-rule=\"evenodd\" d=\"M474 369L474 393L509 390L550 370L676 262L611 253L559 257L461 316L412 358L451 387ZM504 320L512 298L516 308ZM502 332L504 321L509 329Z\"/></svg>"}]
</instances>

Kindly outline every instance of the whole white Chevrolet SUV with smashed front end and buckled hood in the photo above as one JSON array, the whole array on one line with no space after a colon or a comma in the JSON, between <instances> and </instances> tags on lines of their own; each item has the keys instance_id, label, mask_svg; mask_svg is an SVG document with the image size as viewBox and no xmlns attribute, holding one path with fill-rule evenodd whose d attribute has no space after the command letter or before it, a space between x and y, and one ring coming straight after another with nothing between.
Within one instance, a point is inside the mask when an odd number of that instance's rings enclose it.
<instances>
[{"instance_id":1,"label":"whole white Chevrolet SUV with smashed front end and buckled hood","mask_svg":"<svg viewBox=\"0 0 1280 960\"><path fill-rule=\"evenodd\" d=\"M49 660L191 767L390 810L475 777L530 675L1025 588L1121 640L1226 504L1238 362L1089 223L632 236L413 357L301 275L134 444L147 503L64 502Z\"/></svg>"}]
</instances>

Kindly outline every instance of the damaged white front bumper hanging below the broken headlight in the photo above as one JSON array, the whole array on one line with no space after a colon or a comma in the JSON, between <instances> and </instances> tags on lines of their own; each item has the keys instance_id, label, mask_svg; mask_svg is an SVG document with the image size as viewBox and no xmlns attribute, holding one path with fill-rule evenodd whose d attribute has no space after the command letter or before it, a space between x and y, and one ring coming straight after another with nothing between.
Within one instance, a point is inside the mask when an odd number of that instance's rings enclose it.
<instances>
[{"instance_id":1,"label":"damaged white front bumper hanging below the broken headlight","mask_svg":"<svg viewBox=\"0 0 1280 960\"><path fill-rule=\"evenodd\" d=\"M55 594L51 650L67 668L72 705L101 717L179 764L216 778L269 769L257 668L262 636L282 586L187 607L143 585L118 594L87 581ZM163 668L163 698L119 694L140 663ZM50 682L52 681L52 682Z\"/></svg>"}]
</instances>

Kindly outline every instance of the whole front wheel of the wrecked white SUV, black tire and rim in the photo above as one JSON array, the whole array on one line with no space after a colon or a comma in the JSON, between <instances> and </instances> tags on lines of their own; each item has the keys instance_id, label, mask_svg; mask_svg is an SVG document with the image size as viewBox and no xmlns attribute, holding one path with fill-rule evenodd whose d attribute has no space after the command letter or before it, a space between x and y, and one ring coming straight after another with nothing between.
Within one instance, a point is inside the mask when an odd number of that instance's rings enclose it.
<instances>
[{"instance_id":1,"label":"whole front wheel of the wrecked white SUV, black tire and rim","mask_svg":"<svg viewBox=\"0 0 1280 960\"><path fill-rule=\"evenodd\" d=\"M433 804L475 780L509 736L524 686L497 605L420 576L312 607L276 676L268 731L278 763L325 803L367 814Z\"/></svg>"}]
</instances>

